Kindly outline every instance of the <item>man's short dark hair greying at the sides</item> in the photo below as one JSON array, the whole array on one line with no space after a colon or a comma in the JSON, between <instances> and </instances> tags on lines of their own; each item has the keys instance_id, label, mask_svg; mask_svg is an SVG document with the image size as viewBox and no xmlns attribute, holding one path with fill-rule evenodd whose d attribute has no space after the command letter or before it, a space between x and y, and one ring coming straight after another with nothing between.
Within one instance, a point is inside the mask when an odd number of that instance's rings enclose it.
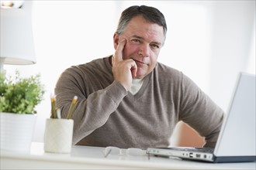
<instances>
[{"instance_id":1,"label":"man's short dark hair greying at the sides","mask_svg":"<svg viewBox=\"0 0 256 170\"><path fill-rule=\"evenodd\" d=\"M164 15L157 8L146 5L134 5L126 8L121 14L116 33L118 35L122 34L130 20L137 15L143 16L148 22L156 23L157 25L162 26L164 29L164 37L166 36L167 25Z\"/></svg>"}]
</instances>

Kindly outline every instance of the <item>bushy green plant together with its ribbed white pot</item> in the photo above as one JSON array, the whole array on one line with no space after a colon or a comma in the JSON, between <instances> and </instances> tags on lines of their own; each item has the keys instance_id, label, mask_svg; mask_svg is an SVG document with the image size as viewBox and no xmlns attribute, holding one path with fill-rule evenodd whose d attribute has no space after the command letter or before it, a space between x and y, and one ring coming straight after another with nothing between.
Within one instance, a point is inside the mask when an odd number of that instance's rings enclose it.
<instances>
[{"instance_id":1,"label":"bushy green plant together with its ribbed white pot","mask_svg":"<svg viewBox=\"0 0 256 170\"><path fill-rule=\"evenodd\" d=\"M29 151L36 123L37 104L43 100L40 74L20 77L0 73L1 150Z\"/></svg>"}]
</instances>

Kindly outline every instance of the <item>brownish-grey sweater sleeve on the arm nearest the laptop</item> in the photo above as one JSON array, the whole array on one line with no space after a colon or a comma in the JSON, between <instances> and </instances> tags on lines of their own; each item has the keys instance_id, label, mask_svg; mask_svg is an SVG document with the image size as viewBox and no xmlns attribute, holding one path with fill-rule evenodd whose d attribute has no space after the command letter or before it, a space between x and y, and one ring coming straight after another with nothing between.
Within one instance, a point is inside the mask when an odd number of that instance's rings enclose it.
<instances>
[{"instance_id":1,"label":"brownish-grey sweater sleeve on the arm nearest the laptop","mask_svg":"<svg viewBox=\"0 0 256 170\"><path fill-rule=\"evenodd\" d=\"M205 137L204 147L214 148L223 123L223 110L183 75L180 120Z\"/></svg>"}]
</instances>

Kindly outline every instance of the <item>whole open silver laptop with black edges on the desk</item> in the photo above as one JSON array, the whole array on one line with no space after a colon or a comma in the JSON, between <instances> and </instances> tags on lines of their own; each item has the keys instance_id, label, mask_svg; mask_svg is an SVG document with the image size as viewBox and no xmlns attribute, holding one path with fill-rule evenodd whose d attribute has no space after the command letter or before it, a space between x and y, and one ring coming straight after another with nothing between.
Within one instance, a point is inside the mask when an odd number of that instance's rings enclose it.
<instances>
[{"instance_id":1,"label":"whole open silver laptop with black edges on the desk","mask_svg":"<svg viewBox=\"0 0 256 170\"><path fill-rule=\"evenodd\" d=\"M202 162L255 162L255 75L239 73L215 148L147 148L147 154Z\"/></svg>"}]
</instances>

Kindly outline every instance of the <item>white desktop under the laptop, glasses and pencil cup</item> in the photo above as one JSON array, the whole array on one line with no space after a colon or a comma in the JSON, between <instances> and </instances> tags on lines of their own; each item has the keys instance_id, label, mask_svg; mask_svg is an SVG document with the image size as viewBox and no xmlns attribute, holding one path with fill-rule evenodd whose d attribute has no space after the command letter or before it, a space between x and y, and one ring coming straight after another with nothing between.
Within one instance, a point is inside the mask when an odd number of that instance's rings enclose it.
<instances>
[{"instance_id":1,"label":"white desktop under the laptop, glasses and pencil cup","mask_svg":"<svg viewBox=\"0 0 256 170\"><path fill-rule=\"evenodd\" d=\"M74 146L71 154L51 154L43 151L43 143L33 143L29 153L1 151L1 169L255 169L256 162L204 163L151 156L108 155L104 148Z\"/></svg>"}]
</instances>

